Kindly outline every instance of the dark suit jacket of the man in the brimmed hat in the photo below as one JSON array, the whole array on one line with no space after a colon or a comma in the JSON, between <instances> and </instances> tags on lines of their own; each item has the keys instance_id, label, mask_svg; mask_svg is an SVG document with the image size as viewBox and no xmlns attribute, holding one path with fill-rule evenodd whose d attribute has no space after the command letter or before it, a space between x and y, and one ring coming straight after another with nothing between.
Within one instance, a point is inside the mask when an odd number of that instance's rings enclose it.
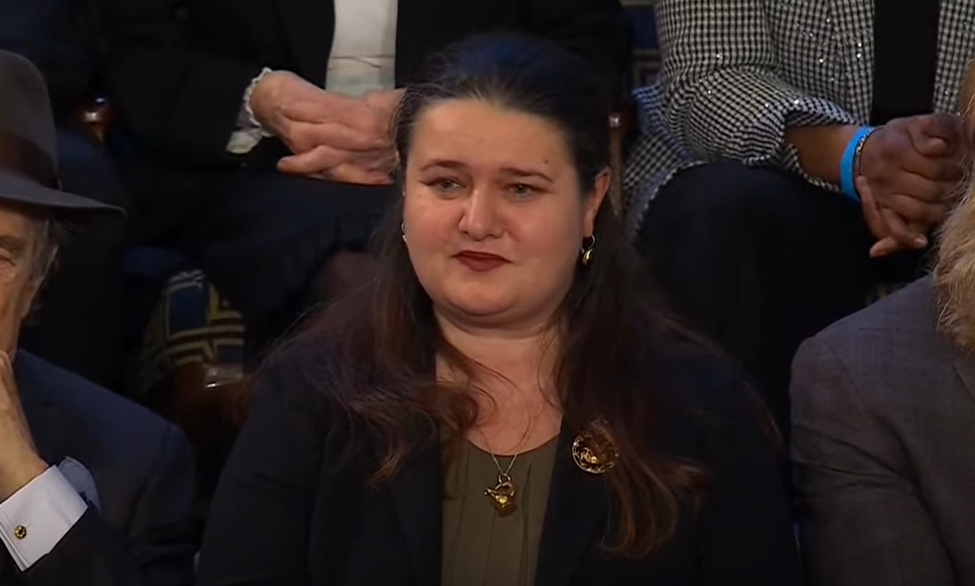
<instances>
[{"instance_id":1,"label":"dark suit jacket of the man in the brimmed hat","mask_svg":"<svg viewBox=\"0 0 975 586\"><path fill-rule=\"evenodd\" d=\"M4 586L188 586L195 545L193 458L171 424L107 390L18 352L24 412L41 456L88 469L100 512L21 574L0 547Z\"/></svg>"}]
</instances>

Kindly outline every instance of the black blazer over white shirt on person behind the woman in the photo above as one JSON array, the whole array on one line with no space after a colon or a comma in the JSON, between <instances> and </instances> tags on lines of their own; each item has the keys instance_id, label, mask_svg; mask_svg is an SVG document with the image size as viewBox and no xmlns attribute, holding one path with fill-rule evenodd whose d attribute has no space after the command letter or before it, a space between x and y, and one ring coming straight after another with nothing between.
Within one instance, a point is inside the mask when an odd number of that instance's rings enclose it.
<instances>
[{"instance_id":1,"label":"black blazer over white shirt on person behind the woman","mask_svg":"<svg viewBox=\"0 0 975 586\"><path fill-rule=\"evenodd\" d=\"M169 155L227 160L241 98L262 66L325 80L331 0L88 0L108 45L121 122ZM396 78L473 33L548 37L592 60L622 92L630 25L618 0L399 0Z\"/></svg>"}]
</instances>

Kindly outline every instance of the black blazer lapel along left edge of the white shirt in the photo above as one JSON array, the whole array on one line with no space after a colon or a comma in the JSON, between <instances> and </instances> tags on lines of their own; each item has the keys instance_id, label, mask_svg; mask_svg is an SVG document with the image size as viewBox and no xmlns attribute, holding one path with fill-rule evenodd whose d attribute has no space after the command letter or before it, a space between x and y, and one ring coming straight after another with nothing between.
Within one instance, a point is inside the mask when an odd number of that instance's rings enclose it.
<instances>
[{"instance_id":1,"label":"black blazer lapel along left edge of the white shirt","mask_svg":"<svg viewBox=\"0 0 975 586\"><path fill-rule=\"evenodd\" d=\"M297 73L314 84L324 84L335 37L333 0L278 0L274 4L291 42Z\"/></svg>"}]
</instances>

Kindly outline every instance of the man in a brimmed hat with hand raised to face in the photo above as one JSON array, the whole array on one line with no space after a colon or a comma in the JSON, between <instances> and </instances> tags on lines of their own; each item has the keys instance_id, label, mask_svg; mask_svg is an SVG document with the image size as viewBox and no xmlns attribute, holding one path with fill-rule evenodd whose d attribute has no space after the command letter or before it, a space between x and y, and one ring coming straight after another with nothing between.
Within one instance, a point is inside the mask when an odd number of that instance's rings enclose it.
<instances>
[{"instance_id":1,"label":"man in a brimmed hat with hand raised to face","mask_svg":"<svg viewBox=\"0 0 975 586\"><path fill-rule=\"evenodd\" d=\"M192 584L196 495L182 434L17 350L64 224L119 209L57 189L44 80L5 51L0 104L0 584Z\"/></svg>"}]
</instances>

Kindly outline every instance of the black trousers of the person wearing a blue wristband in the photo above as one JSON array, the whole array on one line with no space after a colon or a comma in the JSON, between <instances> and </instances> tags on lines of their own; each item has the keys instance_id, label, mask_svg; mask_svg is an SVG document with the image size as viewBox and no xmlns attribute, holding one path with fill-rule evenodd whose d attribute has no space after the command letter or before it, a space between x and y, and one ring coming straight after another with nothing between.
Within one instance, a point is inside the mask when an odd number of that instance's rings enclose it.
<instances>
[{"instance_id":1,"label":"black trousers of the person wearing a blue wristband","mask_svg":"<svg viewBox=\"0 0 975 586\"><path fill-rule=\"evenodd\" d=\"M718 162L661 189L639 238L673 310L736 357L788 436L802 341L864 307L919 255L871 261L860 207L792 174Z\"/></svg>"}]
</instances>

